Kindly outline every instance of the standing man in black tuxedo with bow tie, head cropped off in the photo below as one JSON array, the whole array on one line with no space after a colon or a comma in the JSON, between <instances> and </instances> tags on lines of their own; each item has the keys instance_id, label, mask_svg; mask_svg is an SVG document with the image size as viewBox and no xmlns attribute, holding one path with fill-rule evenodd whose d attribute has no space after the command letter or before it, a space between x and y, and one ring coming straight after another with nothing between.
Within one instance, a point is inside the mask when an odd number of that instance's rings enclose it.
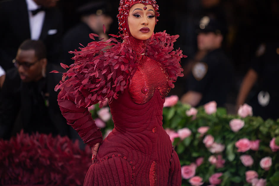
<instances>
[{"instance_id":1,"label":"standing man in black tuxedo with bow tie, head cropped off","mask_svg":"<svg viewBox=\"0 0 279 186\"><path fill-rule=\"evenodd\" d=\"M44 42L51 63L61 62L62 14L58 0L5 0L0 2L0 65L13 67L12 59L26 39Z\"/></svg>"}]
</instances>

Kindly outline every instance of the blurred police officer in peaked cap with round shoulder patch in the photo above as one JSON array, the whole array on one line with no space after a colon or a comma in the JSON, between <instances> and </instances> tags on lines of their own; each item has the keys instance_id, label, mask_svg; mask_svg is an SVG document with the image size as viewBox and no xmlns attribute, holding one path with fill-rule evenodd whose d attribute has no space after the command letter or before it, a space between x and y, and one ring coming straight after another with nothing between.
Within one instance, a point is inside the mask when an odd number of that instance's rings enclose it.
<instances>
[{"instance_id":1,"label":"blurred police officer in peaked cap with round shoulder patch","mask_svg":"<svg viewBox=\"0 0 279 186\"><path fill-rule=\"evenodd\" d=\"M226 28L216 17L204 16L199 22L197 46L203 57L195 61L181 102L201 106L216 101L225 106L233 83L233 66L221 46Z\"/></svg>"}]
</instances>

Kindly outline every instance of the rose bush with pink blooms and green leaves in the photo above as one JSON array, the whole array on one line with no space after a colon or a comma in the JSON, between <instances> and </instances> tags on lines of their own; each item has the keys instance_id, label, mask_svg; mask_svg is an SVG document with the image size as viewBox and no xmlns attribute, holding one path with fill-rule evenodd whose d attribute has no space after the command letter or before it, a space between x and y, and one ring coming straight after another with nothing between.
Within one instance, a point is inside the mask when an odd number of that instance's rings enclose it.
<instances>
[{"instance_id":1,"label":"rose bush with pink blooms and green leaves","mask_svg":"<svg viewBox=\"0 0 279 186\"><path fill-rule=\"evenodd\" d=\"M164 128L174 134L183 128L191 131L186 138L172 138L181 167L197 165L195 175L182 179L183 186L195 184L196 177L202 186L278 186L279 120L252 116L247 104L237 115L215 110L214 102L195 109L179 101L163 109Z\"/></svg>"}]
</instances>

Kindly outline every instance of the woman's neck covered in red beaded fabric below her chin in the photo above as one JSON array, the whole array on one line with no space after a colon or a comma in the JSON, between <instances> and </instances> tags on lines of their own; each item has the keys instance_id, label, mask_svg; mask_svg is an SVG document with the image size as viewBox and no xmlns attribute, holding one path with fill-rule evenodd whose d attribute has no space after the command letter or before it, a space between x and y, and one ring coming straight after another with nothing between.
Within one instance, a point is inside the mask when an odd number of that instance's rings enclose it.
<instances>
[{"instance_id":1,"label":"woman's neck covered in red beaded fabric below her chin","mask_svg":"<svg viewBox=\"0 0 279 186\"><path fill-rule=\"evenodd\" d=\"M124 39L124 42L132 48L132 51L138 54L145 54L146 46L149 43L149 41L149 39L140 40L131 35L128 38Z\"/></svg>"}]
</instances>

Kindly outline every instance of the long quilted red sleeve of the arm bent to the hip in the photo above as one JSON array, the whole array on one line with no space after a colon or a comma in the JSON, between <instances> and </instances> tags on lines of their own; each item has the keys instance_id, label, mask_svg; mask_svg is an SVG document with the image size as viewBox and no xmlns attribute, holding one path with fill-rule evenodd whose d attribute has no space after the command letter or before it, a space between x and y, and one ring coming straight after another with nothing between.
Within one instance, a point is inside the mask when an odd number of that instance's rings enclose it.
<instances>
[{"instance_id":1,"label":"long quilted red sleeve of the arm bent to the hip","mask_svg":"<svg viewBox=\"0 0 279 186\"><path fill-rule=\"evenodd\" d=\"M76 106L74 102L76 98L71 93L73 92L71 89L73 90L72 87L62 88L57 99L60 110L63 116L67 119L67 124L71 125L78 132L83 142L87 145L92 147L96 143L101 144L103 141L101 130L96 127L96 124L91 117L91 113L87 108L78 108ZM66 93L67 96L65 96Z\"/></svg>"}]
</instances>

